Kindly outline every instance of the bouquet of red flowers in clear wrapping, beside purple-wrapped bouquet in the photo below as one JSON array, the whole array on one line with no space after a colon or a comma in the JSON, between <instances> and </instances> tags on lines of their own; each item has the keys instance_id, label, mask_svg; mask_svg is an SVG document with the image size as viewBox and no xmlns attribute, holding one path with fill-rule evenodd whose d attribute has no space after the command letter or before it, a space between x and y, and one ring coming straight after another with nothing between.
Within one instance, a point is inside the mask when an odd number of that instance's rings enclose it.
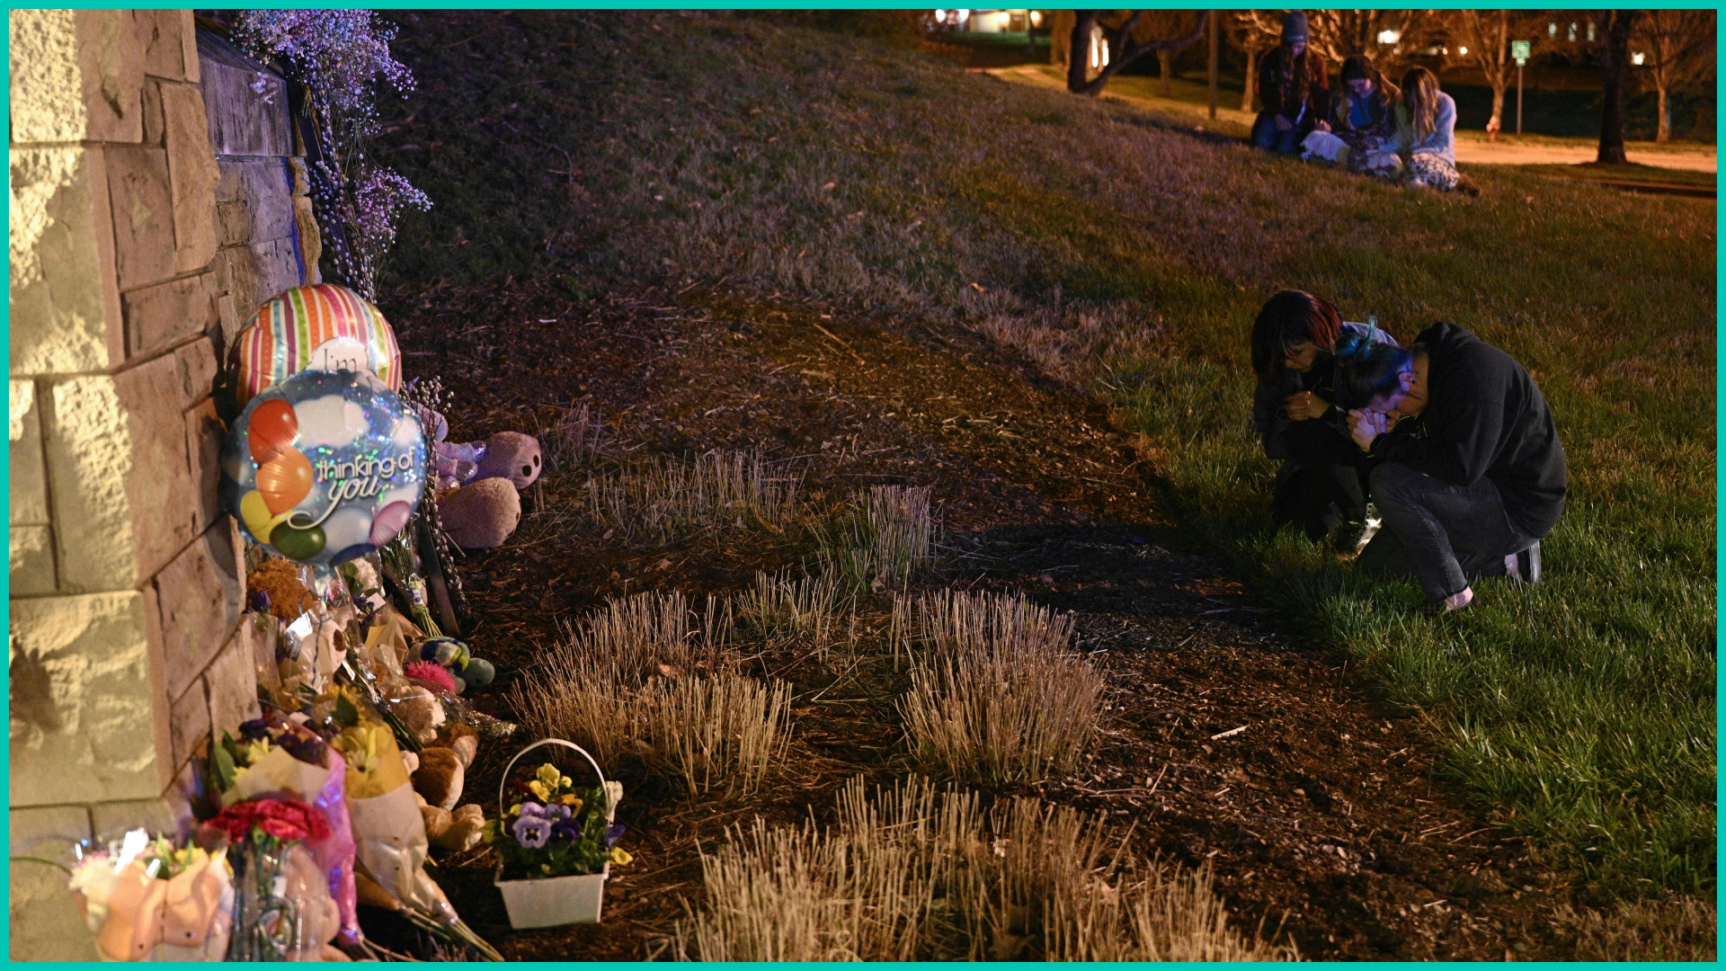
<instances>
[{"instance_id":1,"label":"bouquet of red flowers in clear wrapping, beside purple-wrapped bouquet","mask_svg":"<svg viewBox=\"0 0 1726 971\"><path fill-rule=\"evenodd\" d=\"M342 912L328 874L302 841L324 840L330 826L297 798L255 798L223 809L204 824L235 848L238 898L228 961L345 961L330 947Z\"/></svg>"}]
</instances>

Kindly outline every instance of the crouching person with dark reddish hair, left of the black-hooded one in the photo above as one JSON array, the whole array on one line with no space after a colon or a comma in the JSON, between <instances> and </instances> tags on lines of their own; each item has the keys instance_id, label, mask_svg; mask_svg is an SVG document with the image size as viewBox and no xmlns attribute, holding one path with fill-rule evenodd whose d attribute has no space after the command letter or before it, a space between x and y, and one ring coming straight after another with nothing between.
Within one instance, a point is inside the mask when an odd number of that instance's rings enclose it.
<instances>
[{"instance_id":1,"label":"crouching person with dark reddish hair, left of the black-hooded one","mask_svg":"<svg viewBox=\"0 0 1726 971\"><path fill-rule=\"evenodd\" d=\"M1303 290L1270 297L1253 321L1253 427L1265 456L1282 461L1270 518L1298 524L1313 543L1338 524L1365 522L1358 453L1331 404L1338 340L1393 342L1383 330L1345 323L1336 304Z\"/></svg>"}]
</instances>

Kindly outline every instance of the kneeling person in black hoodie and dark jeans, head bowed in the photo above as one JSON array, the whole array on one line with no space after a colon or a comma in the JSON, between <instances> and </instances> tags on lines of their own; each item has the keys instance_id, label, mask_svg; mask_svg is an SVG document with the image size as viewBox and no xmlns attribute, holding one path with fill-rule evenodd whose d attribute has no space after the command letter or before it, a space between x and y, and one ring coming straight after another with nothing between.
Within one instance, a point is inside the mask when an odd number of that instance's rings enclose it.
<instances>
[{"instance_id":1,"label":"kneeling person in black hoodie and dark jeans, head bowed","mask_svg":"<svg viewBox=\"0 0 1726 971\"><path fill-rule=\"evenodd\" d=\"M1515 358L1453 323L1429 327L1410 351L1412 375L1395 408L1348 413L1384 518L1360 570L1412 574L1433 613L1467 606L1471 579L1540 582L1540 541L1565 496L1546 399Z\"/></svg>"}]
</instances>

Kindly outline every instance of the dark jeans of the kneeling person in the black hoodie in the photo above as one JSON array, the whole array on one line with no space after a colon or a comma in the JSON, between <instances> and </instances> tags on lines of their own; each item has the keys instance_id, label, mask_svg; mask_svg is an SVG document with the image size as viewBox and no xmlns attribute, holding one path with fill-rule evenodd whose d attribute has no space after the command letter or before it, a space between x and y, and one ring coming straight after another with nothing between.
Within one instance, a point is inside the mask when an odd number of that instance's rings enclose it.
<instances>
[{"instance_id":1,"label":"dark jeans of the kneeling person in the black hoodie","mask_svg":"<svg viewBox=\"0 0 1726 971\"><path fill-rule=\"evenodd\" d=\"M1365 574L1420 581L1429 601L1462 593L1471 579L1502 577L1505 556L1534 544L1510 522L1498 486L1452 486L1386 461L1372 470L1372 503L1384 529L1360 551Z\"/></svg>"}]
</instances>

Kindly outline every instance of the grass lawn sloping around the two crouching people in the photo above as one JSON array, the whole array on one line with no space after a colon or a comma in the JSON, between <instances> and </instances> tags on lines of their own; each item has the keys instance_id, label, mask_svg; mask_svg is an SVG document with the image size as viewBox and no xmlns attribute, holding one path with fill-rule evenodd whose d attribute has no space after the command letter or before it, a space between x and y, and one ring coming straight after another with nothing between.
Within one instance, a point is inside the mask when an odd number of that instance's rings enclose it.
<instances>
[{"instance_id":1,"label":"grass lawn sloping around the two crouching people","mask_svg":"<svg viewBox=\"0 0 1726 971\"><path fill-rule=\"evenodd\" d=\"M416 292L725 280L889 327L1060 332L1155 449L1181 536L1424 712L1503 826L1600 893L1712 893L1712 200L1509 166L1474 169L1479 199L1410 192L763 19L485 12L445 40L397 55L463 107L383 155L435 202L394 257ZM1546 582L1429 620L1412 586L1270 532L1246 335L1284 287L1528 365L1571 470Z\"/></svg>"}]
</instances>

